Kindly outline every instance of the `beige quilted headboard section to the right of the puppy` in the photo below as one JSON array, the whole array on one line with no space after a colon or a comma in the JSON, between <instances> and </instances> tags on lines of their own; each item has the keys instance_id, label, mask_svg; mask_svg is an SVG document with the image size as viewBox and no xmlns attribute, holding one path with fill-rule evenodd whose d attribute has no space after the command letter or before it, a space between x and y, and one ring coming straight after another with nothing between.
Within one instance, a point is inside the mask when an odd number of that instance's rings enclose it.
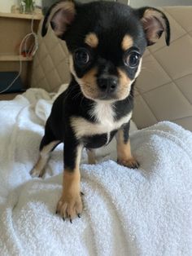
<instances>
[{"instance_id":1,"label":"beige quilted headboard section to the right of the puppy","mask_svg":"<svg viewBox=\"0 0 192 256\"><path fill-rule=\"evenodd\" d=\"M192 7L164 7L171 45L148 47L136 82L133 120L138 128L174 121L192 130Z\"/></svg>"}]
</instances>

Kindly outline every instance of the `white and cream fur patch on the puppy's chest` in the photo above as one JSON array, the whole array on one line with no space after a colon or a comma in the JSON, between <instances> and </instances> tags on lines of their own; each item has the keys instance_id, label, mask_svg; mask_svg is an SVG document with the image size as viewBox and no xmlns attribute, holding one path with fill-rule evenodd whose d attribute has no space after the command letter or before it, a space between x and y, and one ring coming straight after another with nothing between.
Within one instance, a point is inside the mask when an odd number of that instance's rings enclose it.
<instances>
[{"instance_id":1,"label":"white and cream fur patch on the puppy's chest","mask_svg":"<svg viewBox=\"0 0 192 256\"><path fill-rule=\"evenodd\" d=\"M90 115L95 118L95 123L85 120L83 117L71 117L71 125L75 130L76 137L80 139L83 136L102 135L107 134L107 142L110 139L110 132L112 130L120 129L120 126L127 123L131 117L132 112L114 121L115 112L109 103L96 103L91 110Z\"/></svg>"}]
</instances>

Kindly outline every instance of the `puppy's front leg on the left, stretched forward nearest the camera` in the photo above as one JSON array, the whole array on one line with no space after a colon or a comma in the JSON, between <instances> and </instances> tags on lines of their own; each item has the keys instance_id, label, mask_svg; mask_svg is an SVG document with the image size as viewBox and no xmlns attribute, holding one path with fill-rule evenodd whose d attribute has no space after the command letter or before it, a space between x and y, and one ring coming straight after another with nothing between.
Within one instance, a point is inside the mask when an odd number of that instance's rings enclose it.
<instances>
[{"instance_id":1,"label":"puppy's front leg on the left, stretched forward nearest the camera","mask_svg":"<svg viewBox=\"0 0 192 256\"><path fill-rule=\"evenodd\" d=\"M65 140L64 144L64 173L63 192L58 202L56 213L65 218L72 218L76 215L80 218L83 209L80 191L80 160L82 145Z\"/></svg>"}]
</instances>

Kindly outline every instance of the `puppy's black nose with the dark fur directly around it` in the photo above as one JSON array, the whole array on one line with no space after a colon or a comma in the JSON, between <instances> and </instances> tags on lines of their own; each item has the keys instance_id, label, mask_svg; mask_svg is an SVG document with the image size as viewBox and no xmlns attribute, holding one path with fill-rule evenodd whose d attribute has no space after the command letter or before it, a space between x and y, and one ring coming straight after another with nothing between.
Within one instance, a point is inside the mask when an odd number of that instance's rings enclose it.
<instances>
[{"instance_id":1,"label":"puppy's black nose with the dark fur directly around it","mask_svg":"<svg viewBox=\"0 0 192 256\"><path fill-rule=\"evenodd\" d=\"M115 76L98 77L98 88L103 93L103 97L113 95L118 86L118 78Z\"/></svg>"}]
</instances>

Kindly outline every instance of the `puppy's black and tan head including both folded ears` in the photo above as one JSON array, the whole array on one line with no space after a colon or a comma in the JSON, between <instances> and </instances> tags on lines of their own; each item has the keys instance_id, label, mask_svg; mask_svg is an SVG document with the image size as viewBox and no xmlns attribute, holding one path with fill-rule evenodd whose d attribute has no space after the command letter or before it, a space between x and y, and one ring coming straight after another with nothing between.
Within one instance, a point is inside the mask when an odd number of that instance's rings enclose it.
<instances>
[{"instance_id":1,"label":"puppy's black and tan head including both folded ears","mask_svg":"<svg viewBox=\"0 0 192 256\"><path fill-rule=\"evenodd\" d=\"M70 0L50 7L43 26L51 24L66 41L70 70L88 99L121 100L129 96L141 70L142 55L165 33L167 17L155 8L132 9L117 2L79 4Z\"/></svg>"}]
</instances>

